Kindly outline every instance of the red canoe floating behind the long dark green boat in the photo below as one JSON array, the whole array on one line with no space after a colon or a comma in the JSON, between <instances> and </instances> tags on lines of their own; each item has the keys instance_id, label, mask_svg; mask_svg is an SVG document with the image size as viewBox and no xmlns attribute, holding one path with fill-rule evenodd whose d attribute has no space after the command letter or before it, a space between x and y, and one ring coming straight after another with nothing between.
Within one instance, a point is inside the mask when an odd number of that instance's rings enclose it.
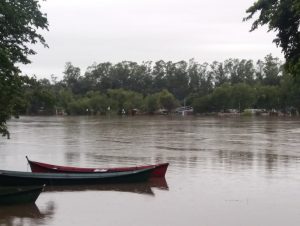
<instances>
[{"instance_id":1,"label":"red canoe floating behind the long dark green boat","mask_svg":"<svg viewBox=\"0 0 300 226\"><path fill-rule=\"evenodd\" d=\"M145 166L133 166L133 167L118 167L118 168L80 168L70 166L57 166L42 162L35 162L26 159L30 165L31 171L34 173L111 173L111 172L123 172L153 168L151 177L164 177L167 172L169 163L161 163L156 165L145 165Z\"/></svg>"}]
</instances>

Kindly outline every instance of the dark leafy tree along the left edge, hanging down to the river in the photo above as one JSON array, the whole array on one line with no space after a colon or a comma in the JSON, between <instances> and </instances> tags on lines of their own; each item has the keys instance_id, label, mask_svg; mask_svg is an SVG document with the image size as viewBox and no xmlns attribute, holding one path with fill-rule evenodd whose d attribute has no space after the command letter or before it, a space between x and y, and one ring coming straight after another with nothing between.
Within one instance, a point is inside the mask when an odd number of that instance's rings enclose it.
<instances>
[{"instance_id":1,"label":"dark leafy tree along the left edge, hanging down to the river","mask_svg":"<svg viewBox=\"0 0 300 226\"><path fill-rule=\"evenodd\" d=\"M31 44L47 44L38 29L48 29L48 21L36 0L0 1L0 134L9 137L6 121L18 114L16 99L26 78L17 64L28 64L35 51Z\"/></svg>"}]
</instances>

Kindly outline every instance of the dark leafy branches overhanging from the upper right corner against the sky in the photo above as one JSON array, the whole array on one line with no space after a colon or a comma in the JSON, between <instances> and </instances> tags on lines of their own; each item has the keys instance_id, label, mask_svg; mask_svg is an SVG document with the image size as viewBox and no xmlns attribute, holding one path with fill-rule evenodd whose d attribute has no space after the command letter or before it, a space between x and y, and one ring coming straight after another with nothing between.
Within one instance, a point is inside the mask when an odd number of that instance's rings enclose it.
<instances>
[{"instance_id":1,"label":"dark leafy branches overhanging from the upper right corner against the sky","mask_svg":"<svg viewBox=\"0 0 300 226\"><path fill-rule=\"evenodd\" d=\"M258 0L246 13L244 20L254 20L251 31L258 26L268 25L269 31L277 32L273 40L282 48L288 70L300 80L300 3L299 0Z\"/></svg>"}]
</instances>

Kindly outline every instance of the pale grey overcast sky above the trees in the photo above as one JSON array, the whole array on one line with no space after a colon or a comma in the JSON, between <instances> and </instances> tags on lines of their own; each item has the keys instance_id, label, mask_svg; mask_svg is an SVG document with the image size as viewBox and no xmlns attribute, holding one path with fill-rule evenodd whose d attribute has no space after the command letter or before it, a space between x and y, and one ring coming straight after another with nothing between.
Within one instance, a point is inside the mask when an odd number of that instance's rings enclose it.
<instances>
[{"instance_id":1,"label":"pale grey overcast sky above the trees","mask_svg":"<svg viewBox=\"0 0 300 226\"><path fill-rule=\"evenodd\" d=\"M48 0L41 2L48 45L34 46L24 73L59 79L66 62L86 68L123 60L223 61L228 58L283 58L267 28L249 33L242 22L254 0Z\"/></svg>"}]
</instances>

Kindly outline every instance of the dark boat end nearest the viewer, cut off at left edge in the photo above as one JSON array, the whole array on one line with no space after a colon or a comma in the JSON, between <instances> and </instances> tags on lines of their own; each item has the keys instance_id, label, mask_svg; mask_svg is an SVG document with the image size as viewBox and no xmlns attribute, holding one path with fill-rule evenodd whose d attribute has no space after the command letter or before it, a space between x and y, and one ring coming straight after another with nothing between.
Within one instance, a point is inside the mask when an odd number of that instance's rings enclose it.
<instances>
[{"instance_id":1,"label":"dark boat end nearest the viewer, cut off at left edge","mask_svg":"<svg viewBox=\"0 0 300 226\"><path fill-rule=\"evenodd\" d=\"M34 203L44 187L1 187L0 205Z\"/></svg>"}]
</instances>

